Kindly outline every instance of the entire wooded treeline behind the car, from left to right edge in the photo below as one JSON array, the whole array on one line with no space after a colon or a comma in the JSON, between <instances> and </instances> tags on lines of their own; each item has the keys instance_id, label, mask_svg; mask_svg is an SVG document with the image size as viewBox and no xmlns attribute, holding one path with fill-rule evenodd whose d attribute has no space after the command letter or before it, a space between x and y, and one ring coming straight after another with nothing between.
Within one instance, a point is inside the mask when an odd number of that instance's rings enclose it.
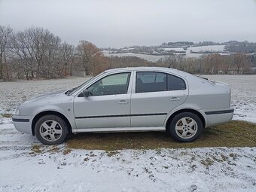
<instances>
[{"instance_id":1,"label":"entire wooded treeline behind the car, from left to right edge","mask_svg":"<svg viewBox=\"0 0 256 192\"><path fill-rule=\"evenodd\" d=\"M136 56L106 57L88 41L80 41L75 47L41 27L14 32L9 26L0 26L0 79L7 81L65 78L79 72L96 75L105 69L127 66L164 66L194 74L252 74L256 73L255 62L255 57L242 53L215 53L200 58L172 55L157 62Z\"/></svg>"}]
</instances>

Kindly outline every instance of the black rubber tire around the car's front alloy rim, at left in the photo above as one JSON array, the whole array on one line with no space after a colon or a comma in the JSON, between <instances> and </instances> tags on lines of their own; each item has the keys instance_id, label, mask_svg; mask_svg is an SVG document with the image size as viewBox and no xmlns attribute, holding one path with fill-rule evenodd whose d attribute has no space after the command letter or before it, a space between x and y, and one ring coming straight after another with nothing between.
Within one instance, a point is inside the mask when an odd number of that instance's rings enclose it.
<instances>
[{"instance_id":1,"label":"black rubber tire around the car's front alloy rim, at left","mask_svg":"<svg viewBox=\"0 0 256 192\"><path fill-rule=\"evenodd\" d=\"M52 129L49 130L49 135L48 136L41 136L42 130L47 130L51 126L51 120L54 120L56 124L56 130L59 132L62 132L62 134L57 134L57 133L52 133ZM44 129L44 126L42 125L43 123L47 122L47 125L50 125L47 127L47 129ZM50 129L50 128L49 128ZM44 133L46 133L45 131ZM46 133L47 134L47 133ZM56 141L50 141L51 137L50 134L54 135L54 138L56 138ZM63 120L61 117L53 115L53 114L48 114L40 119L35 123L35 136L44 145L59 145L62 144L62 142L65 141L66 137L69 134L69 126L66 124L65 120ZM59 136L59 137L58 137Z\"/></svg>"}]
</instances>

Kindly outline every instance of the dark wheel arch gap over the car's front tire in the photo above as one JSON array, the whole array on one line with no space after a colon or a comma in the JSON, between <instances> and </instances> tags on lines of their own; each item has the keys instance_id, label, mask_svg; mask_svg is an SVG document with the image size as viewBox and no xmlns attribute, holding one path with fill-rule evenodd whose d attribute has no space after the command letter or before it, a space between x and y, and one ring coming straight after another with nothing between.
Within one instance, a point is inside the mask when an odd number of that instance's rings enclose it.
<instances>
[{"instance_id":1,"label":"dark wheel arch gap over the car's front tire","mask_svg":"<svg viewBox=\"0 0 256 192\"><path fill-rule=\"evenodd\" d=\"M61 114L57 111L41 111L40 113L36 114L35 117L32 120L31 129L32 129L32 135L33 136L35 136L35 123L38 121L38 119L40 119L41 117L43 117L45 115L48 115L48 114L56 115L58 117L61 117L63 120L65 120L65 122L67 123L67 125L69 127L69 133L72 133L72 126L69 123L68 118L64 114Z\"/></svg>"}]
</instances>

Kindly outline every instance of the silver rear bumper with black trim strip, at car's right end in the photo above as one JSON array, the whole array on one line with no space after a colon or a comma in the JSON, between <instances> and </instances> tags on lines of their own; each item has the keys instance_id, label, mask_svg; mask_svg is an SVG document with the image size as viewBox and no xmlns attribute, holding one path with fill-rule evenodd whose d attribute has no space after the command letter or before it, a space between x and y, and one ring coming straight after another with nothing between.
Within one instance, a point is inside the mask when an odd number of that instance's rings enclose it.
<instances>
[{"instance_id":1,"label":"silver rear bumper with black trim strip, at car's right end","mask_svg":"<svg viewBox=\"0 0 256 192\"><path fill-rule=\"evenodd\" d=\"M233 108L220 108L214 111L204 110L203 113L206 118L206 127L229 122L233 117L233 111Z\"/></svg>"}]
</instances>

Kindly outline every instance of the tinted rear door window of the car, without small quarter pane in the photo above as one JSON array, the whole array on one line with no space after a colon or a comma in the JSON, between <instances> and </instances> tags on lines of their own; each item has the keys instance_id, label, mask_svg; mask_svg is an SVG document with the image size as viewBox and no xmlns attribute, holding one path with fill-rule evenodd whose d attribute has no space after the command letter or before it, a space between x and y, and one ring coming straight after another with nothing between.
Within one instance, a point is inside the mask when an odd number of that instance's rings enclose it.
<instances>
[{"instance_id":1,"label":"tinted rear door window of the car, without small quarter pane","mask_svg":"<svg viewBox=\"0 0 256 192\"><path fill-rule=\"evenodd\" d=\"M137 72L136 93L167 90L167 75L161 72Z\"/></svg>"}]
</instances>

